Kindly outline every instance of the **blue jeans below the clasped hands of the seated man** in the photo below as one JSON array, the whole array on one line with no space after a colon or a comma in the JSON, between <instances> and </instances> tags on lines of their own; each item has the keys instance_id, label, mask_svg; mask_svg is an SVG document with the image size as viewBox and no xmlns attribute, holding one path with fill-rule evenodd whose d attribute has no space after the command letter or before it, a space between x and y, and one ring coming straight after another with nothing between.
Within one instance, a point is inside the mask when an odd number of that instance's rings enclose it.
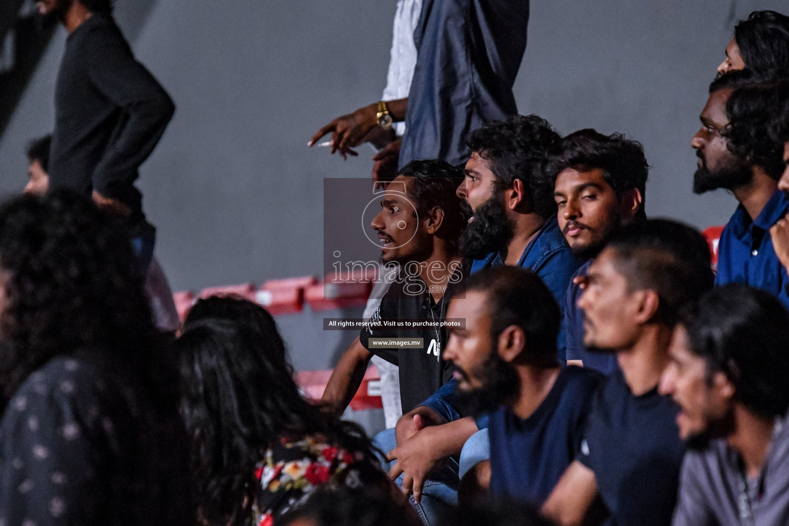
<instances>
[{"instance_id":1,"label":"blue jeans below the clasped hands of the seated man","mask_svg":"<svg viewBox=\"0 0 789 526\"><path fill-rule=\"evenodd\" d=\"M394 428L381 431L372 438L372 445L383 451L384 454L394 450L397 446L397 438L394 436ZM394 466L396 461L387 461L381 458L381 466L387 472ZM402 474L394 481L398 487L402 488ZM419 513L422 522L426 526L438 524L439 517L452 506L458 505L458 459L457 457L447 458L443 464L439 465L424 481L422 488L422 498L420 502L413 500L413 495L409 501L413 508Z\"/></svg>"}]
</instances>

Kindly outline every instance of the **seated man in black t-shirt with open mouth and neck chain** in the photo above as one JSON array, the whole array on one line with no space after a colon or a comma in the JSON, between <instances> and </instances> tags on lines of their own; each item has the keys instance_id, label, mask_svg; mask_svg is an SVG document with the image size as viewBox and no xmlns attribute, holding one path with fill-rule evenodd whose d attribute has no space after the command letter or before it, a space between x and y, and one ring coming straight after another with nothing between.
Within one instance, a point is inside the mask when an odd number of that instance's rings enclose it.
<instances>
[{"instance_id":1,"label":"seated man in black t-shirt with open mouth and neck chain","mask_svg":"<svg viewBox=\"0 0 789 526\"><path fill-rule=\"evenodd\" d=\"M441 358L447 331L438 324L447 312L444 298L447 293L458 293L463 278L459 245L467 221L454 193L460 177L462 173L447 162L413 161L387 187L371 226L383 242L383 263L398 265L399 272L370 323L331 374L323 401L336 412L342 413L353 398L373 354L398 365L403 413L450 378L451 371ZM398 319L429 324L417 330L393 330L379 324ZM421 338L421 345L400 347L387 341L391 338Z\"/></svg>"}]
</instances>

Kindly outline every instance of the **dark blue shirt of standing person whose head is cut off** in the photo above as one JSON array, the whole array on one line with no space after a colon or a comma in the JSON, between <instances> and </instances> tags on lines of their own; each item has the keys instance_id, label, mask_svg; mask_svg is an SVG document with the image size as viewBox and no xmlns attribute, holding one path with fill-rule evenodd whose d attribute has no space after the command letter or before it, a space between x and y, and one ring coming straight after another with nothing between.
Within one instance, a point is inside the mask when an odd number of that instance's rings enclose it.
<instances>
[{"instance_id":1,"label":"dark blue shirt of standing person whose head is cut off","mask_svg":"<svg viewBox=\"0 0 789 526\"><path fill-rule=\"evenodd\" d=\"M512 86L526 49L529 1L424 0L400 168L469 158L466 135L518 113Z\"/></svg>"}]
</instances>

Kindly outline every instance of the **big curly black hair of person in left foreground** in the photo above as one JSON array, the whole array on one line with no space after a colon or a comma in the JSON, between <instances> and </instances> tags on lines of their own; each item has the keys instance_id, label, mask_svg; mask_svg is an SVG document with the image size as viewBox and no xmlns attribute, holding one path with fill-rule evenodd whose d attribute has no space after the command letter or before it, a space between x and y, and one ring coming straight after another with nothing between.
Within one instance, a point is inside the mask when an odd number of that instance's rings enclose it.
<instances>
[{"instance_id":1,"label":"big curly black hair of person in left foreground","mask_svg":"<svg viewBox=\"0 0 789 526\"><path fill-rule=\"evenodd\" d=\"M157 379L168 373L165 353L159 352L128 233L92 200L52 190L6 202L0 207L0 276L3 407L54 356L121 360L149 386L163 385Z\"/></svg>"}]
</instances>

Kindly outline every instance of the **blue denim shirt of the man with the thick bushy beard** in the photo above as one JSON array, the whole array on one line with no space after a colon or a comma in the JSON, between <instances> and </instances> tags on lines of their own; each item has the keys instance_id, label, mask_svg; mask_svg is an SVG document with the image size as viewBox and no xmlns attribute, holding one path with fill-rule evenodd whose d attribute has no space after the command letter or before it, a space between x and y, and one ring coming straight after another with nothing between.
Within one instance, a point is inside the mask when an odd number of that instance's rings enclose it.
<instances>
[{"instance_id":1,"label":"blue denim shirt of the man with the thick bushy beard","mask_svg":"<svg viewBox=\"0 0 789 526\"><path fill-rule=\"evenodd\" d=\"M518 267L529 269L540 276L545 285L548 285L548 289L551 289L556 303L559 304L559 311L563 314L567 285L572 281L573 274L581 263L583 262L575 259L570 253L570 246L554 214L545 221L537 236L526 245L521 259L518 260ZM498 252L488 254L484 259L477 259L472 263L471 274L491 265L503 264L504 260ZM563 364L566 360L564 326L559 330L556 346L559 363Z\"/></svg>"}]
</instances>

